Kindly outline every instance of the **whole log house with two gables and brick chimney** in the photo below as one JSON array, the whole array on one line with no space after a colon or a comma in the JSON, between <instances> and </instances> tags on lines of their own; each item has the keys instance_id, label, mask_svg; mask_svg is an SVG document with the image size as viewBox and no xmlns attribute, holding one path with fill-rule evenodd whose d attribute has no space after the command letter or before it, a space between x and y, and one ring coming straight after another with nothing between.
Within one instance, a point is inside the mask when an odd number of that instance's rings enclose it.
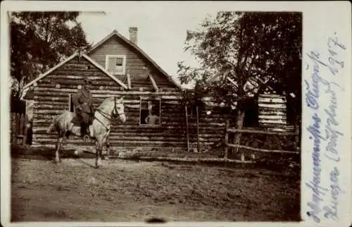
<instances>
[{"instance_id":1,"label":"whole log house with two gables and brick chimney","mask_svg":"<svg viewBox=\"0 0 352 227\"><path fill-rule=\"evenodd\" d=\"M57 114L74 111L71 97L81 88L84 77L93 82L94 106L112 95L125 99L127 121L112 125L108 137L111 149L208 148L223 140L221 108L205 100L199 118L191 106L186 114L182 87L138 47L137 27L129 31L127 39L114 30L87 54L77 52L25 85L23 99L32 121L32 145L55 144L56 135L47 134L46 128ZM148 109L160 121L146 124ZM68 144L89 146L78 137L69 137Z\"/></svg>"}]
</instances>

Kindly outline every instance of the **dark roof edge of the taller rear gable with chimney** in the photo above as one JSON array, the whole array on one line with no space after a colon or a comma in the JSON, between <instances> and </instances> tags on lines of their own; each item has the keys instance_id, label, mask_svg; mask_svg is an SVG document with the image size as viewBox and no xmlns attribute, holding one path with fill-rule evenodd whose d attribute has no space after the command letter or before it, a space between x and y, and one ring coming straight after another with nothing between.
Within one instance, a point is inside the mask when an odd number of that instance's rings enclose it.
<instances>
[{"instance_id":1,"label":"dark roof edge of the taller rear gable with chimney","mask_svg":"<svg viewBox=\"0 0 352 227\"><path fill-rule=\"evenodd\" d=\"M117 30L113 30L113 32L110 33L110 35L108 35L107 37L105 37L104 39L102 39L100 42L98 42L97 44L95 44L92 49L88 52L88 54L91 54L93 51L95 51L96 49L98 49L99 47L101 47L101 45L103 45L106 41L108 41L109 39L111 39L112 37L117 37L118 39L121 39L123 42L125 42L127 45L129 45L130 47L132 47L132 49L134 49L135 51L137 51L139 54L141 54L142 56L144 56L159 72L161 72L163 75L165 75L166 78L168 78L168 80L170 82L172 82L172 84L174 84L177 88L179 88L180 90L183 90L183 88L177 84L177 82L175 82L174 79L172 79L172 77L170 75L168 75L168 73L166 73L160 66L158 66L158 64L153 61L153 59L151 59L151 57L149 57L144 51L142 51L142 49L140 49L136 44L134 44L133 42L131 42L129 39L126 39L125 37L123 37L122 35L120 35L120 33L118 33Z\"/></svg>"}]
</instances>

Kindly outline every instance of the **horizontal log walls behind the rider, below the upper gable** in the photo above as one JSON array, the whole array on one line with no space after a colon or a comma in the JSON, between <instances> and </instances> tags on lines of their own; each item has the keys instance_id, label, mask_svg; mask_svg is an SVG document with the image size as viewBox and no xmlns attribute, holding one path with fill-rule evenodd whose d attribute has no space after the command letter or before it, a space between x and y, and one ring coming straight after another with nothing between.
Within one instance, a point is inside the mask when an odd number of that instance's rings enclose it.
<instances>
[{"instance_id":1,"label":"horizontal log walls behind the rider, below the upper gable","mask_svg":"<svg viewBox=\"0 0 352 227\"><path fill-rule=\"evenodd\" d=\"M75 58L65 63L34 86L33 145L54 145L56 135L46 134L46 129L54 116L69 109L69 94L77 92L83 77L88 77L93 82L91 92L96 107L111 95L124 96L127 121L120 125L112 125L109 137L112 149L187 147L184 107L180 104L181 93L177 88L158 84L162 91L153 92L143 86L132 86L131 90L123 90L118 83L84 58L80 61ZM161 125L139 125L140 99L149 96L161 98ZM210 115L206 115L208 110L211 110ZM191 146L196 147L196 120L194 117L193 120L191 118L189 139ZM199 141L202 148L217 144L224 137L225 118L216 106L210 105L201 109L199 126ZM90 145L77 137L70 137L68 142L73 145Z\"/></svg>"}]
</instances>

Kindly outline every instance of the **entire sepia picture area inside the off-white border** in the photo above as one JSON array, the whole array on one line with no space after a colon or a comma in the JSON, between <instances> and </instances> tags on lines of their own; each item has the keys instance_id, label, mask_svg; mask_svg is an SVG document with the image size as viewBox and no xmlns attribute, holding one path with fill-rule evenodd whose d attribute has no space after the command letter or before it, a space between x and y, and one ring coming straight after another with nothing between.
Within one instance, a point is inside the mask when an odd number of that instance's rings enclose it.
<instances>
[{"instance_id":1,"label":"entire sepia picture area inside the off-white border","mask_svg":"<svg viewBox=\"0 0 352 227\"><path fill-rule=\"evenodd\" d=\"M302 221L302 11L116 6L6 11L11 223Z\"/></svg>"}]
</instances>

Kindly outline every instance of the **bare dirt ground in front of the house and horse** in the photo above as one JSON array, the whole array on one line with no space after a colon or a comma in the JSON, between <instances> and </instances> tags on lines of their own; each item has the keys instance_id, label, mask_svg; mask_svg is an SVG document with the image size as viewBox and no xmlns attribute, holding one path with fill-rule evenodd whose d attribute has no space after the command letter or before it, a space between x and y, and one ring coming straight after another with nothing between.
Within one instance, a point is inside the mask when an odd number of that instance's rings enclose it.
<instances>
[{"instance_id":1,"label":"bare dirt ground in front of the house and horse","mask_svg":"<svg viewBox=\"0 0 352 227\"><path fill-rule=\"evenodd\" d=\"M299 221L298 173L13 156L11 221Z\"/></svg>"}]
</instances>

